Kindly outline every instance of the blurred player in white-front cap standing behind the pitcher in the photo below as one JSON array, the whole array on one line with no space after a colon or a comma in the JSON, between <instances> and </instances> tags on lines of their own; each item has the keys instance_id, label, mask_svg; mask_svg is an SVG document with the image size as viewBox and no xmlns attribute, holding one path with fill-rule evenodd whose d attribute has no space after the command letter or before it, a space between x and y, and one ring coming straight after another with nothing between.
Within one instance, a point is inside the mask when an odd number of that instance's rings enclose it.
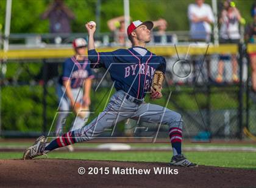
<instances>
[{"instance_id":1,"label":"blurred player in white-front cap standing behind the pitcher","mask_svg":"<svg viewBox=\"0 0 256 188\"><path fill-rule=\"evenodd\" d=\"M83 38L77 38L73 41L75 55L66 59L63 64L63 73L60 76L57 86L59 97L59 116L57 118L57 127L55 135L60 136L63 129L63 121L68 116L69 110L73 109L76 102L82 103L84 109L88 109L91 103L90 90L93 74L90 68L88 58L85 57L87 42ZM84 89L84 92L83 92ZM85 116L76 116L71 130L80 129L87 122L89 112ZM69 151L73 151L73 146L69 145Z\"/></svg>"}]
</instances>

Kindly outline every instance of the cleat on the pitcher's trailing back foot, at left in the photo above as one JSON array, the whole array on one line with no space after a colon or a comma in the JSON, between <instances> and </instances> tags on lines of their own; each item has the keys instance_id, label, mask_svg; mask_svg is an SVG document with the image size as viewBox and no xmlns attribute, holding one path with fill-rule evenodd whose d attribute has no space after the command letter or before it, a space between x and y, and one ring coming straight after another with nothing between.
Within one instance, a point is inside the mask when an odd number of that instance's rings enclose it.
<instances>
[{"instance_id":1,"label":"cleat on the pitcher's trailing back foot, at left","mask_svg":"<svg viewBox=\"0 0 256 188\"><path fill-rule=\"evenodd\" d=\"M44 147L46 144L46 138L44 136L40 136L37 138L33 146L30 146L23 155L23 160L32 159L36 156L44 155Z\"/></svg>"}]
</instances>

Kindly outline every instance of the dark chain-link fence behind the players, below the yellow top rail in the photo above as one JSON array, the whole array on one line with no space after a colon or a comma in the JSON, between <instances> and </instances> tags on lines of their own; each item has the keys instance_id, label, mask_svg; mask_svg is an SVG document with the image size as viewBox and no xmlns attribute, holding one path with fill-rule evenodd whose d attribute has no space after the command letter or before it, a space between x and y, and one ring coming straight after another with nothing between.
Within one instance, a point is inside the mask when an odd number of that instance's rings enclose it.
<instances>
[{"instance_id":1,"label":"dark chain-link fence behind the players, below the yellow top rail","mask_svg":"<svg viewBox=\"0 0 256 188\"><path fill-rule=\"evenodd\" d=\"M174 46L174 50L176 47ZM166 58L163 98L152 102L180 112L185 122L185 138L202 141L210 138L242 138L243 127L255 134L255 95L250 86L249 61L241 45L235 53L178 53ZM189 50L189 47L188 47ZM56 87L64 59L40 59L2 62L1 135L54 135L58 100ZM95 69L91 91L93 118L104 110L113 93L110 76L102 79L104 69ZM99 82L101 82L100 87ZM97 90L96 90L97 88ZM96 91L95 91L96 90ZM69 113L64 131L74 119ZM168 127L124 121L102 136L166 137Z\"/></svg>"}]
</instances>

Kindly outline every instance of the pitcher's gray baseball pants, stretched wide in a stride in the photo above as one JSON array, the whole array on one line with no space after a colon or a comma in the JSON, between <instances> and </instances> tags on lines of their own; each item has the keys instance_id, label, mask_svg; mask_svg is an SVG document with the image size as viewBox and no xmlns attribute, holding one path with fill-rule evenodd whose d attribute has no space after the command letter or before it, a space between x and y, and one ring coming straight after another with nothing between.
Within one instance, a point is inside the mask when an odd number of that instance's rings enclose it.
<instances>
[{"instance_id":1,"label":"pitcher's gray baseball pants, stretched wide in a stride","mask_svg":"<svg viewBox=\"0 0 256 188\"><path fill-rule=\"evenodd\" d=\"M119 90L110 98L110 102L104 111L87 126L74 130L76 142L88 141L95 138L115 126L119 121L124 119L138 119L139 121L166 124L169 129L179 128L182 130L182 116L165 107L156 104L143 102L136 104L132 96L127 96L123 90Z\"/></svg>"}]
</instances>

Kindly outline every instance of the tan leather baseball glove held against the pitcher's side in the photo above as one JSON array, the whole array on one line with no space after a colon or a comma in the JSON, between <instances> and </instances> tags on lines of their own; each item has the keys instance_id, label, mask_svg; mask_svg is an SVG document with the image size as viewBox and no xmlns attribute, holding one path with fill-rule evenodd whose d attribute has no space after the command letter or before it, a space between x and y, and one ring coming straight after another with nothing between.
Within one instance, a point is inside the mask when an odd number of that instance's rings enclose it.
<instances>
[{"instance_id":1,"label":"tan leather baseball glove held against the pitcher's side","mask_svg":"<svg viewBox=\"0 0 256 188\"><path fill-rule=\"evenodd\" d=\"M165 79L165 74L160 70L156 70L154 73L154 77L152 79L151 94L150 94L151 99L162 98L163 79Z\"/></svg>"}]
</instances>

